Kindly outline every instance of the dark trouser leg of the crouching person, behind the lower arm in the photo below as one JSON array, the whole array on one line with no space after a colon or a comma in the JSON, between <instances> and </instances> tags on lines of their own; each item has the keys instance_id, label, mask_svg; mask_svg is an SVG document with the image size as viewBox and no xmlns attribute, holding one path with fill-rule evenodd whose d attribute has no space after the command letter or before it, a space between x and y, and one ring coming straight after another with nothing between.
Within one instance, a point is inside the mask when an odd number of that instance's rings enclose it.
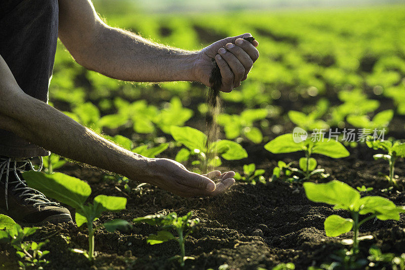
<instances>
[{"instance_id":1,"label":"dark trouser leg of the crouching person, behind the lower arm","mask_svg":"<svg viewBox=\"0 0 405 270\"><path fill-rule=\"evenodd\" d=\"M48 101L58 40L58 0L0 0L0 55L28 95ZM0 155L47 156L48 151L0 130Z\"/></svg>"}]
</instances>

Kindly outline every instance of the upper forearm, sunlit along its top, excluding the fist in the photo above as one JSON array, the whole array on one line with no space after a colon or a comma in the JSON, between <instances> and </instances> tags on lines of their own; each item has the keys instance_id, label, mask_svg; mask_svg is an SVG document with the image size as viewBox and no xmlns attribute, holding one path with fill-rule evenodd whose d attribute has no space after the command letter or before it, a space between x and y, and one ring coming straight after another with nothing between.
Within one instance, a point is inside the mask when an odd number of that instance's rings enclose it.
<instances>
[{"instance_id":1,"label":"upper forearm, sunlit along its top, excluding the fist","mask_svg":"<svg viewBox=\"0 0 405 270\"><path fill-rule=\"evenodd\" d=\"M195 53L152 43L105 24L97 28L92 43L82 51L75 52L65 44L84 67L123 81L195 81Z\"/></svg>"}]
</instances>

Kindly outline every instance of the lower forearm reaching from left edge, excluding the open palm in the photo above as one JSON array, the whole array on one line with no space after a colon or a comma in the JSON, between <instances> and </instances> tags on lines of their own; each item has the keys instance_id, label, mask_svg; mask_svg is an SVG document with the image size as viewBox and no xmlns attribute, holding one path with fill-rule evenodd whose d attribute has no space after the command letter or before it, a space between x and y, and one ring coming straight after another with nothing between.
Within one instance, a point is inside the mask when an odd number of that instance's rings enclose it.
<instances>
[{"instance_id":1,"label":"lower forearm reaching from left edge, excluding the open palm","mask_svg":"<svg viewBox=\"0 0 405 270\"><path fill-rule=\"evenodd\" d=\"M118 147L20 89L10 92L2 96L7 105L0 110L0 128L72 160L138 178L134 180L151 173L150 159Z\"/></svg>"}]
</instances>

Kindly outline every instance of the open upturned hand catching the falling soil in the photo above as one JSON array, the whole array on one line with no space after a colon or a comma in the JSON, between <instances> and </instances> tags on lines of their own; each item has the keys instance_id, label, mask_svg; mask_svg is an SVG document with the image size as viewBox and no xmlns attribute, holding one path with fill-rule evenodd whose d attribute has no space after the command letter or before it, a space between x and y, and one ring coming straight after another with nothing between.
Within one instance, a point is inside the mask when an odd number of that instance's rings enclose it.
<instances>
[{"instance_id":1,"label":"open upturned hand catching the falling soil","mask_svg":"<svg viewBox=\"0 0 405 270\"><path fill-rule=\"evenodd\" d=\"M151 166L154 175L145 180L181 197L216 196L235 182L235 173L232 171L212 171L200 175L169 159L153 159ZM212 179L217 180L217 183Z\"/></svg>"}]
</instances>

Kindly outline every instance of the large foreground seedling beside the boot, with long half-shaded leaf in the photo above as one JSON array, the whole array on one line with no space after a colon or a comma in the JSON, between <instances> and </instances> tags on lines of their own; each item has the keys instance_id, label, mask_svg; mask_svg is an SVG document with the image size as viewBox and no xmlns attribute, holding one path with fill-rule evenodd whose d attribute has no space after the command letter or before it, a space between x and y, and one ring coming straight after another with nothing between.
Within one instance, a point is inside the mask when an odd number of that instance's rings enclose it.
<instances>
[{"instance_id":1,"label":"large foreground seedling beside the boot, with long half-shaded leaf","mask_svg":"<svg viewBox=\"0 0 405 270\"><path fill-rule=\"evenodd\" d=\"M78 227L87 225L89 231L89 250L73 249L72 251L82 253L89 260L93 260L94 253L94 233L101 227L105 227L108 232L113 232L116 228L128 227L125 220L112 220L104 224L93 226L104 211L119 211L125 209L127 199L123 197L98 195L93 203L85 203L89 198L92 189L85 181L68 176L63 173L43 174L39 172L24 172L23 177L28 186L35 188L45 196L67 204L76 210L75 220Z\"/></svg>"}]
</instances>

